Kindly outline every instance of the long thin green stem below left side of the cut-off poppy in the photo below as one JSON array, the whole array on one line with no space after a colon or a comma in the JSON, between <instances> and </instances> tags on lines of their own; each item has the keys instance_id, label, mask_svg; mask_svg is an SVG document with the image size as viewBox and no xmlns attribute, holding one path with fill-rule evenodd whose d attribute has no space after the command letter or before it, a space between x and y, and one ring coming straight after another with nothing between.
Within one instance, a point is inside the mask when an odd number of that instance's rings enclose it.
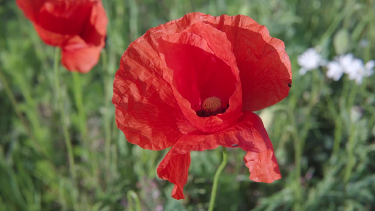
<instances>
[{"instance_id":1,"label":"long thin green stem below left side of the cut-off poppy","mask_svg":"<svg viewBox=\"0 0 375 211\"><path fill-rule=\"evenodd\" d=\"M69 131L68 127L66 125L66 114L63 106L63 100L62 97L60 96L60 81L58 79L58 63L59 63L59 49L55 48L55 56L54 56L54 65L53 65L53 70L54 70L54 78L55 78L55 92L57 96L57 101L58 101L58 107L60 109L60 118L61 118L61 123L63 127L63 133L64 133L64 139L65 139L65 145L66 149L68 151L68 160L69 160L69 169L71 172L71 176L73 181L75 181L75 164L74 164L74 157L73 157L73 149L72 149L72 143L69 137Z\"/></svg>"}]
</instances>

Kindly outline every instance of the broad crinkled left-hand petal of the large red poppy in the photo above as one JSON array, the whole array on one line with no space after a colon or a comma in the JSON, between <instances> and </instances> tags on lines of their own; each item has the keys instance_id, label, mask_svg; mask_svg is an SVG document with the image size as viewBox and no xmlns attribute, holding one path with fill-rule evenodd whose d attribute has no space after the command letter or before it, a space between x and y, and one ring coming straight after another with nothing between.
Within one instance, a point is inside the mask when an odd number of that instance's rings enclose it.
<instances>
[{"instance_id":1,"label":"broad crinkled left-hand petal of the large red poppy","mask_svg":"<svg viewBox=\"0 0 375 211\"><path fill-rule=\"evenodd\" d=\"M183 134L196 130L181 112L157 57L148 42L131 43L121 57L112 99L117 127L127 140L153 150L173 146Z\"/></svg>"}]
</instances>

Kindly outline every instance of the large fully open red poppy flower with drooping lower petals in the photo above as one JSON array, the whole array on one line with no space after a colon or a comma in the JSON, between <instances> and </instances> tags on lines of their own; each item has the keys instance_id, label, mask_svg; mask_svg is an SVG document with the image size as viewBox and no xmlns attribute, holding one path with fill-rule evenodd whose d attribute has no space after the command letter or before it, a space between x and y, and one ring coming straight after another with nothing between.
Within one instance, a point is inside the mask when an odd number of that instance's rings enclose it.
<instances>
[{"instance_id":1,"label":"large fully open red poppy flower with drooping lower petals","mask_svg":"<svg viewBox=\"0 0 375 211\"><path fill-rule=\"evenodd\" d=\"M219 145L247 153L250 179L280 179L272 143L253 111L291 85L284 42L244 15L190 13L132 42L114 79L117 127L144 149L172 148L157 174L183 199L190 151Z\"/></svg>"}]
</instances>

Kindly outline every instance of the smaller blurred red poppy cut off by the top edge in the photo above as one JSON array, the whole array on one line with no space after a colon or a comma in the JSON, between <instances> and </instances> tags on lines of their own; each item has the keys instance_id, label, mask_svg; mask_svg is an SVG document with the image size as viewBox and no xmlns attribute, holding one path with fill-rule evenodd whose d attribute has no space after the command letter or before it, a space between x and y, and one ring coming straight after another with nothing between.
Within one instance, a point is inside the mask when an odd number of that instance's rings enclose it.
<instances>
[{"instance_id":1,"label":"smaller blurred red poppy cut off by the top edge","mask_svg":"<svg viewBox=\"0 0 375 211\"><path fill-rule=\"evenodd\" d=\"M16 0L40 38L62 49L69 71L89 72L98 63L107 34L101 0Z\"/></svg>"}]
</instances>

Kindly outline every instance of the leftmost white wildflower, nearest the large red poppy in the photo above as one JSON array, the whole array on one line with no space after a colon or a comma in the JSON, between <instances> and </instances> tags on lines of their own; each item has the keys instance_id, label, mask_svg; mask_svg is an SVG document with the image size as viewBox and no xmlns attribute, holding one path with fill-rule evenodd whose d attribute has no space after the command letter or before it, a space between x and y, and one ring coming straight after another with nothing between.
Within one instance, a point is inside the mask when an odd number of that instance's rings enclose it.
<instances>
[{"instance_id":1,"label":"leftmost white wildflower, nearest the large red poppy","mask_svg":"<svg viewBox=\"0 0 375 211\"><path fill-rule=\"evenodd\" d=\"M297 57L297 63L301 66L299 74L305 75L307 71L316 69L320 65L323 65L324 61L315 48L309 48Z\"/></svg>"}]
</instances>

